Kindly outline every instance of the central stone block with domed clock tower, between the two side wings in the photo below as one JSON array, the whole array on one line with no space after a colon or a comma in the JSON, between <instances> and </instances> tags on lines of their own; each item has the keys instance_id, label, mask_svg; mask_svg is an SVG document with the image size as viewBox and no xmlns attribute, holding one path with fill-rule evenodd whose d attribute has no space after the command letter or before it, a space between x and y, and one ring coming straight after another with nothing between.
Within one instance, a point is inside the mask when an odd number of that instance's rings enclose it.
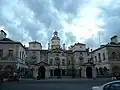
<instances>
[{"instance_id":1,"label":"central stone block with domed clock tower, between the two side wings","mask_svg":"<svg viewBox=\"0 0 120 90\"><path fill-rule=\"evenodd\" d=\"M53 33L48 49L42 49L41 43L29 42L27 62L35 78L53 77L96 77L95 65L85 44L75 43L67 50L61 47L58 32Z\"/></svg>"}]
</instances>

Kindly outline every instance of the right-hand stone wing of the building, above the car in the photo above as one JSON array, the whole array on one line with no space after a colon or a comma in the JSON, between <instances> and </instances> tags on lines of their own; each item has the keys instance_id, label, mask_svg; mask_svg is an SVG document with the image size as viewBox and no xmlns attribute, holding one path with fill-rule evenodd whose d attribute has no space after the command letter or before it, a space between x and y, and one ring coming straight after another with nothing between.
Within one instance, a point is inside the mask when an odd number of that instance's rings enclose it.
<instances>
[{"instance_id":1,"label":"right-hand stone wing of the building, above the car","mask_svg":"<svg viewBox=\"0 0 120 90\"><path fill-rule=\"evenodd\" d=\"M92 56L96 64L97 76L120 73L120 43L116 35L111 38L110 43L95 49Z\"/></svg>"}]
</instances>

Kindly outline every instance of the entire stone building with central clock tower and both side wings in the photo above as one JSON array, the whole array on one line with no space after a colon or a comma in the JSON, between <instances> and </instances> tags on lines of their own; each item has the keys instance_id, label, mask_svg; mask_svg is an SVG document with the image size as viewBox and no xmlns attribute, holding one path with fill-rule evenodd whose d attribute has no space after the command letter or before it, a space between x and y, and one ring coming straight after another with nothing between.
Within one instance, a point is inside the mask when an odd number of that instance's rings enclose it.
<instances>
[{"instance_id":1,"label":"entire stone building with central clock tower and both side wings","mask_svg":"<svg viewBox=\"0 0 120 90\"><path fill-rule=\"evenodd\" d=\"M75 43L69 49L61 46L58 32L53 33L48 49L40 42L29 42L29 47L13 41L0 31L0 72L17 71L21 77L34 78L96 78L120 72L120 43L117 36L110 43L95 50L86 44Z\"/></svg>"}]
</instances>

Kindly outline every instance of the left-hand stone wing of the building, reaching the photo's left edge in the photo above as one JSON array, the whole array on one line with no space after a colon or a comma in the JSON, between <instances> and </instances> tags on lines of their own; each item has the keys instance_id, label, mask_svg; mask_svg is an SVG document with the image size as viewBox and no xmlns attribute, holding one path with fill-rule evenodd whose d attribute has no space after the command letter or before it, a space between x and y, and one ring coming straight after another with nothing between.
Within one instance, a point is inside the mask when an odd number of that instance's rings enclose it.
<instances>
[{"instance_id":1,"label":"left-hand stone wing of the building, reaching the photo's left edge","mask_svg":"<svg viewBox=\"0 0 120 90\"><path fill-rule=\"evenodd\" d=\"M0 71L21 71L24 74L26 66L26 48L21 42L6 38L6 33L0 31Z\"/></svg>"}]
</instances>

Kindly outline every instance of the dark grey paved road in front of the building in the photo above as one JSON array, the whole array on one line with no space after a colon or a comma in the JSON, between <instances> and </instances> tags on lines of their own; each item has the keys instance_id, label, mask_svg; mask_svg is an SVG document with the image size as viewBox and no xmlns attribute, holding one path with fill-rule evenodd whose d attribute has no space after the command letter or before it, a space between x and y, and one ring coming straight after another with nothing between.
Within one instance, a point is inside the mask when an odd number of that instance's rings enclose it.
<instances>
[{"instance_id":1,"label":"dark grey paved road in front of the building","mask_svg":"<svg viewBox=\"0 0 120 90\"><path fill-rule=\"evenodd\" d=\"M3 83L0 90L90 90L108 80L21 80Z\"/></svg>"}]
</instances>

